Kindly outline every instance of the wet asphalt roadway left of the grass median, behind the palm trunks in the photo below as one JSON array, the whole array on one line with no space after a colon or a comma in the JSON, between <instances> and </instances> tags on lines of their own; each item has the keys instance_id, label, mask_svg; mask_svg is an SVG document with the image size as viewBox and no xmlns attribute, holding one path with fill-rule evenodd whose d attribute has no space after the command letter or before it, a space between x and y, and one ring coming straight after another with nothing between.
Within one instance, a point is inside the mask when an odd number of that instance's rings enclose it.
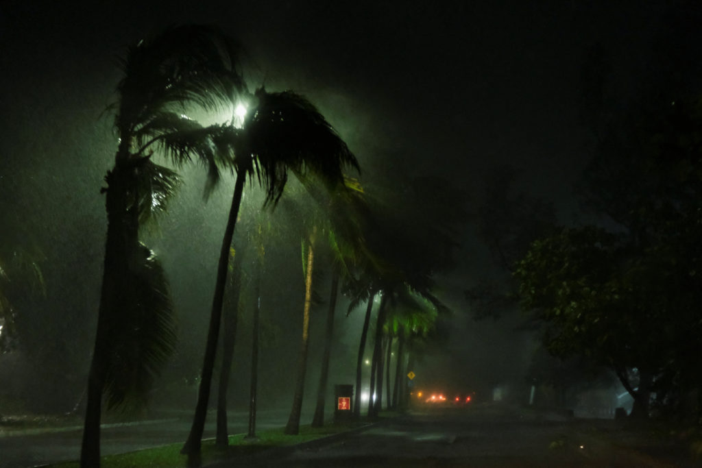
<instances>
[{"instance_id":1,"label":"wet asphalt roadway left of the grass median, behind the palm trunks","mask_svg":"<svg viewBox=\"0 0 702 468\"><path fill-rule=\"evenodd\" d=\"M173 417L142 422L105 424L101 431L101 453L111 455L142 448L184 442L190 431L192 413L174 413ZM287 422L284 411L259 411L256 429L282 427ZM208 413L204 437L215 435L215 414ZM249 413L229 415L230 434L246 432ZM82 427L60 427L14 432L0 436L0 468L27 468L50 462L78 460Z\"/></svg>"}]
</instances>

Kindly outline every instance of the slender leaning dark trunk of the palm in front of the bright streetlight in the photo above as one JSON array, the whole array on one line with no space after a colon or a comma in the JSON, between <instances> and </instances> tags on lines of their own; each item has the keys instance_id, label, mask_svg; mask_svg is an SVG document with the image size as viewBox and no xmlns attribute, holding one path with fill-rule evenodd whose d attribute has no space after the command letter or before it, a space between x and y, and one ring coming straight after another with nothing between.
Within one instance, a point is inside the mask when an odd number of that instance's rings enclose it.
<instances>
[{"instance_id":1,"label":"slender leaning dark trunk of the palm in front of the bright streetlight","mask_svg":"<svg viewBox=\"0 0 702 468\"><path fill-rule=\"evenodd\" d=\"M241 193L244 191L245 180L246 175L244 173L237 175L237 183L234 185L234 196L232 196L232 206L229 211L229 218L227 219L227 228L225 229L222 247L220 248L217 282L215 284L215 294L212 299L212 310L207 331L205 356L202 363L200 387L197 394L197 405L195 406L195 415L192 420L192 427L190 427L190 434L187 437L187 441L185 441L185 445L180 450L180 453L187 453L188 455L197 456L200 453L202 432L204 432L205 418L207 417L207 403L210 397L210 387L212 384L212 373L215 365L215 356L217 354L220 321L222 319L222 304L224 300L225 284L227 283L227 267L229 266L229 249L232 245L232 237L234 236L234 226L237 224L237 215L239 215ZM197 462L197 460L192 460L192 462Z\"/></svg>"}]
</instances>

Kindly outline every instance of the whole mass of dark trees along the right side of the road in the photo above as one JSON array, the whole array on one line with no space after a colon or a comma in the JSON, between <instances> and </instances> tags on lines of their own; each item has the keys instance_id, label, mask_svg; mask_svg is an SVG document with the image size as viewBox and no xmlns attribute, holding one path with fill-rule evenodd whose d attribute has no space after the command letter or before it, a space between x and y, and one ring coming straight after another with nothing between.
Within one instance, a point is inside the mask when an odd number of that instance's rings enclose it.
<instances>
[{"instance_id":1,"label":"whole mass of dark trees along the right side of the road","mask_svg":"<svg viewBox=\"0 0 702 468\"><path fill-rule=\"evenodd\" d=\"M509 170L478 210L503 276L465 295L479 318L526 313L543 343L528 381L555 389L551 404L614 379L634 417L702 416L702 69L686 55L699 18L691 4L668 9L635 86L620 81L619 51L586 53L579 106L591 160L575 218L558 222L548 204L510 198Z\"/></svg>"}]
</instances>

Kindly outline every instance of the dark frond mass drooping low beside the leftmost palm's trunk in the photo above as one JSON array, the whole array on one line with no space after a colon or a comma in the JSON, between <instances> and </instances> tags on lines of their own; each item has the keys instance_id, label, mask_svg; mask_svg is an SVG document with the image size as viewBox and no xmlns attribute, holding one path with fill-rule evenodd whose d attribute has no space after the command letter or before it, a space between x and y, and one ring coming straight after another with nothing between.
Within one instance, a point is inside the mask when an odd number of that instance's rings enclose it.
<instances>
[{"instance_id":1,"label":"dark frond mass drooping low beside the leftmost palm's trunk","mask_svg":"<svg viewBox=\"0 0 702 468\"><path fill-rule=\"evenodd\" d=\"M129 272L134 290L114 321L105 370L107 408L131 410L147 401L155 377L176 349L176 323L168 281L154 253L140 244Z\"/></svg>"}]
</instances>

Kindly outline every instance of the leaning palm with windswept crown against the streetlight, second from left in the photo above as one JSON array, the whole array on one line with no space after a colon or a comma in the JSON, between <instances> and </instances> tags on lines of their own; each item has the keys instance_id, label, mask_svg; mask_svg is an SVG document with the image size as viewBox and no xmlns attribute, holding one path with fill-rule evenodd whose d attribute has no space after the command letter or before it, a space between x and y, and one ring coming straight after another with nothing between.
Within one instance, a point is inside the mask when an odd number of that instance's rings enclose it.
<instances>
[{"instance_id":1,"label":"leaning palm with windswept crown against the streetlight, second from left","mask_svg":"<svg viewBox=\"0 0 702 468\"><path fill-rule=\"evenodd\" d=\"M237 181L220 250L195 416L190 435L181 450L181 453L190 455L200 452L222 314L229 248L246 180L255 178L265 190L266 203L274 205L284 192L288 171L294 171L303 178L319 177L327 187L333 189L343 182L343 167L358 168L355 156L345 142L303 96L292 91L268 93L264 88L259 88L251 99L253 102L243 126L222 127L220 138L216 140L216 146L220 149L232 150Z\"/></svg>"}]
</instances>

